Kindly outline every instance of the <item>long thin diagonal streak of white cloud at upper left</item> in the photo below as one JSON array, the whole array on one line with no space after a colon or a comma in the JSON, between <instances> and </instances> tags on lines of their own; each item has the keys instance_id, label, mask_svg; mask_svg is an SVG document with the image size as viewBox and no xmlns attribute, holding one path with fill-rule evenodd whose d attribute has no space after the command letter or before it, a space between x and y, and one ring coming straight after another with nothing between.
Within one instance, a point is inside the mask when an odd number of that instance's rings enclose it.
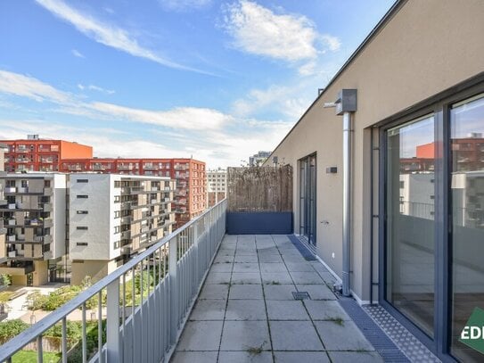
<instances>
[{"instance_id":1,"label":"long thin diagonal streak of white cloud at upper left","mask_svg":"<svg viewBox=\"0 0 484 363\"><path fill-rule=\"evenodd\" d=\"M63 21L69 22L78 29L78 31L85 34L87 37L93 38L98 43L111 46L122 52L126 52L127 54L134 55L135 57L141 57L152 62L160 63L170 68L205 73L201 70L195 70L161 57L152 50L139 45L137 40L132 37L127 30L96 20L94 17L83 14L70 5L65 4L62 0L36 1L37 4L40 4Z\"/></svg>"}]
</instances>

